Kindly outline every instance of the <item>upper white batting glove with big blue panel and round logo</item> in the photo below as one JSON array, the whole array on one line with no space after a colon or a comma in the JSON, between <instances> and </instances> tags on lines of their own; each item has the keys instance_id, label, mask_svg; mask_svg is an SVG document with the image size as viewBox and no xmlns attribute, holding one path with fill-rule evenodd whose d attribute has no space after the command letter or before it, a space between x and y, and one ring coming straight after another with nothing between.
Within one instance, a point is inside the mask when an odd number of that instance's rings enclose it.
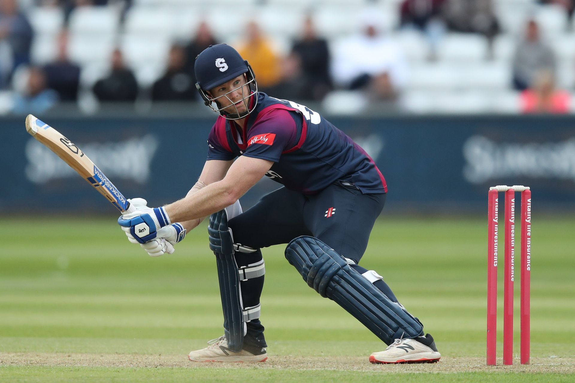
<instances>
[{"instance_id":1,"label":"upper white batting glove with big blue panel and round logo","mask_svg":"<svg viewBox=\"0 0 575 383\"><path fill-rule=\"evenodd\" d=\"M121 215L118 218L118 225L122 226L122 229L127 227L138 243L151 241L157 237L160 228L170 225L170 218L163 207L150 208L143 198L133 198L128 201L136 210Z\"/></svg>"}]
</instances>

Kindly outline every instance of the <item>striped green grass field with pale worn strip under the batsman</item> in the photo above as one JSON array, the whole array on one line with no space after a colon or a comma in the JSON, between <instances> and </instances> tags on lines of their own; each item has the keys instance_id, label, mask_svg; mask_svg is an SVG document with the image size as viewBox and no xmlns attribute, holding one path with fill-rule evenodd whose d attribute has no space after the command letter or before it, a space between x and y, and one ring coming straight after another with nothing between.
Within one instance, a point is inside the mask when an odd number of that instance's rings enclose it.
<instances>
[{"instance_id":1,"label":"striped green grass field with pale worn strip under the batsman","mask_svg":"<svg viewBox=\"0 0 575 383\"><path fill-rule=\"evenodd\" d=\"M533 231L529 366L485 366L486 237L473 219L380 220L362 260L434 335L431 365L371 365L384 345L264 250L262 323L270 356L258 365L196 364L190 350L223 333L205 225L171 256L151 258L115 218L0 220L0 381L573 381L573 219ZM519 243L517 243L519 245ZM519 257L515 354L519 353ZM500 268L500 319L503 267ZM499 348L503 320L498 323ZM498 358L501 363L501 358ZM384 374L384 375L382 375ZM497 374L497 377L494 377Z\"/></svg>"}]
</instances>

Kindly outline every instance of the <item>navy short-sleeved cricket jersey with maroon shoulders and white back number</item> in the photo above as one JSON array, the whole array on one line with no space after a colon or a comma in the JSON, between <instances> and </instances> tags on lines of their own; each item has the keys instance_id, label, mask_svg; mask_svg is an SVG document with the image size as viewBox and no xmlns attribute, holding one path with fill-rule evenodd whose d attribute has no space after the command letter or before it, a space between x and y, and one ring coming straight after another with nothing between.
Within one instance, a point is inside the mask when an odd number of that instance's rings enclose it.
<instances>
[{"instance_id":1,"label":"navy short-sleeved cricket jersey with maroon shoulders and white back number","mask_svg":"<svg viewBox=\"0 0 575 383\"><path fill-rule=\"evenodd\" d=\"M336 180L363 194L388 191L371 157L315 111L258 92L258 105L244 123L218 117L208 137L208 160L248 156L273 161L266 176L286 188L315 194ZM250 106L255 95L250 98Z\"/></svg>"}]
</instances>

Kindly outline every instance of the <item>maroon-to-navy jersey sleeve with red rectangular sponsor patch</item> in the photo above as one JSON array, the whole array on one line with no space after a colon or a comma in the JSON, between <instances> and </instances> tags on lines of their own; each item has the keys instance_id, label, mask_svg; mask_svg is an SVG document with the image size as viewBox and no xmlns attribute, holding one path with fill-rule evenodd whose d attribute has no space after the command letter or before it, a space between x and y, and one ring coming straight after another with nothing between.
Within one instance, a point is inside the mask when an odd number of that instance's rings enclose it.
<instances>
[{"instance_id":1,"label":"maroon-to-navy jersey sleeve with red rectangular sponsor patch","mask_svg":"<svg viewBox=\"0 0 575 383\"><path fill-rule=\"evenodd\" d=\"M274 109L256 121L243 155L277 163L282 152L293 146L297 136L296 121L291 113Z\"/></svg>"}]
</instances>

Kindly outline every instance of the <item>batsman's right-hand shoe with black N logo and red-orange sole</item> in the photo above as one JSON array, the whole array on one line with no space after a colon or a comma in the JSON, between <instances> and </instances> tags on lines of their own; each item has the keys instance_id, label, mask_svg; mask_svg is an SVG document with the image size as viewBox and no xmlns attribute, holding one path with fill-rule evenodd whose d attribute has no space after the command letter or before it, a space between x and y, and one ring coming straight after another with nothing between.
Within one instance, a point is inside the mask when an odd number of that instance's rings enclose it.
<instances>
[{"instance_id":1,"label":"batsman's right-hand shoe with black N logo and red-orange sole","mask_svg":"<svg viewBox=\"0 0 575 383\"><path fill-rule=\"evenodd\" d=\"M384 351L369 356L371 363L435 363L441 354L430 334L415 339L396 339Z\"/></svg>"}]
</instances>

